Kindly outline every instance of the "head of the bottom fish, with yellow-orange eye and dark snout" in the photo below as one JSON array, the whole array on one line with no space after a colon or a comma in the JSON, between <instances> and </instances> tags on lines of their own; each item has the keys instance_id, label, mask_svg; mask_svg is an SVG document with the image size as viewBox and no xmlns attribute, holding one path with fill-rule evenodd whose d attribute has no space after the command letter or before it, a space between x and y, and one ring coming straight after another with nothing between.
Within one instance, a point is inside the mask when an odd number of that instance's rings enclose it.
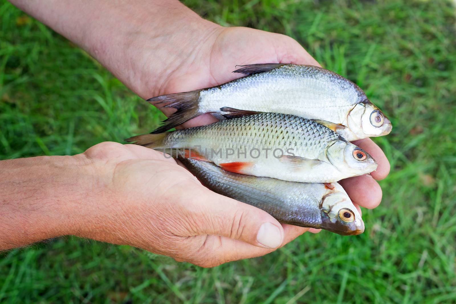
<instances>
[{"instance_id":1,"label":"head of the bottom fish, with yellow-orange eye and dark snout","mask_svg":"<svg viewBox=\"0 0 456 304\"><path fill-rule=\"evenodd\" d=\"M321 201L321 228L341 235L358 235L364 232L364 222L342 186L328 189Z\"/></svg>"}]
</instances>

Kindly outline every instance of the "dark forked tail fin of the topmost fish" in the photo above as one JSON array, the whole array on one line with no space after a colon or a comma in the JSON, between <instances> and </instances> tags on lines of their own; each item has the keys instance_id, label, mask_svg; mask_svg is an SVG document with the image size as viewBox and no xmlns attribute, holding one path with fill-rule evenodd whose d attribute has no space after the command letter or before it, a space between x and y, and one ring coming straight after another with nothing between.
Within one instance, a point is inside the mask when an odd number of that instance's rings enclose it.
<instances>
[{"instance_id":1,"label":"dark forked tail fin of the topmost fish","mask_svg":"<svg viewBox=\"0 0 456 304\"><path fill-rule=\"evenodd\" d=\"M147 99L148 102L155 106L164 104L165 108L177 109L177 111L172 113L168 119L162 122L160 127L151 133L158 134L165 132L201 114L198 111L200 91L201 90L161 95Z\"/></svg>"}]
</instances>

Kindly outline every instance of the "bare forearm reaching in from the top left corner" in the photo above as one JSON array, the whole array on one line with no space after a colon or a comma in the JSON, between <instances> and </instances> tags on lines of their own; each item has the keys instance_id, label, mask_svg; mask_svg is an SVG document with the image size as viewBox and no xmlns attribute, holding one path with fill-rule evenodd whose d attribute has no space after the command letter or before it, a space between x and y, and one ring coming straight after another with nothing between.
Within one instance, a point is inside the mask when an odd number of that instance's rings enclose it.
<instances>
[{"instance_id":1,"label":"bare forearm reaching in from the top left corner","mask_svg":"<svg viewBox=\"0 0 456 304\"><path fill-rule=\"evenodd\" d=\"M11 2L83 47L143 98L162 93L167 73L194 60L195 48L219 28L178 0Z\"/></svg>"}]
</instances>

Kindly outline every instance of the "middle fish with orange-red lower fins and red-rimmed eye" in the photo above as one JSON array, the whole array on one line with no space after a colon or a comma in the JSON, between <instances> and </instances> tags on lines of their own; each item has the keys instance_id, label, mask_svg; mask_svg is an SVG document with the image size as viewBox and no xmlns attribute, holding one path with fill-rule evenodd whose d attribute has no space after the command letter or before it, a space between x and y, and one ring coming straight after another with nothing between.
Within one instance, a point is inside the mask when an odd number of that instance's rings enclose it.
<instances>
[{"instance_id":1,"label":"middle fish with orange-red lower fins and red-rimmed eye","mask_svg":"<svg viewBox=\"0 0 456 304\"><path fill-rule=\"evenodd\" d=\"M208 160L231 172L288 181L331 183L377 168L366 151L325 125L280 113L257 113L126 140L152 149L186 150L189 158Z\"/></svg>"}]
</instances>

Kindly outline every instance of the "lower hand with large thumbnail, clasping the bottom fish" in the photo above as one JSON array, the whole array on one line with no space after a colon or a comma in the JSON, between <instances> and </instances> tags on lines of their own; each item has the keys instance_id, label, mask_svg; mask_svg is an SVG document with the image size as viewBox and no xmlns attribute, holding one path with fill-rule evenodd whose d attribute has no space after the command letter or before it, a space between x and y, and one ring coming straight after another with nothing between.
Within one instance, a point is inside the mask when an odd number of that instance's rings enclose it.
<instances>
[{"instance_id":1,"label":"lower hand with large thumbnail, clasping the bottom fish","mask_svg":"<svg viewBox=\"0 0 456 304\"><path fill-rule=\"evenodd\" d=\"M71 234L212 267L272 252L302 233L208 190L161 152L105 142L81 156L98 200L84 204Z\"/></svg>"}]
</instances>

